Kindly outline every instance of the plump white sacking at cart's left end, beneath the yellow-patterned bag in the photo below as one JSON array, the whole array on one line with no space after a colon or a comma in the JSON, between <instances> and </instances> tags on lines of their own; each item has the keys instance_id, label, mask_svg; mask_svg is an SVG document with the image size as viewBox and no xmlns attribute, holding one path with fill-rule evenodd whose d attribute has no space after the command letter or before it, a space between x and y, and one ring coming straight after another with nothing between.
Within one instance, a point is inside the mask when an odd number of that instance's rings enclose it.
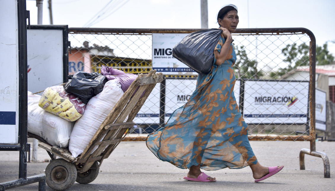
<instances>
[{"instance_id":1,"label":"plump white sacking at cart's left end, beneath the yellow-patterned bag","mask_svg":"<svg viewBox=\"0 0 335 191\"><path fill-rule=\"evenodd\" d=\"M28 92L28 132L53 146L67 147L74 122L62 119L39 107L41 96Z\"/></svg>"}]
</instances>

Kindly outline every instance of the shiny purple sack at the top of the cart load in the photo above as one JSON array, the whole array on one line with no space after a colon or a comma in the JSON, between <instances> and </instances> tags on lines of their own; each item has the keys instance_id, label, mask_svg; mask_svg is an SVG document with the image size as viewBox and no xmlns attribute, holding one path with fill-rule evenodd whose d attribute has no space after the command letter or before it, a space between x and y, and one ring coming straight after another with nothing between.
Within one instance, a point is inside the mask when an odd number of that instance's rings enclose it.
<instances>
[{"instance_id":1,"label":"shiny purple sack at the top of the cart load","mask_svg":"<svg viewBox=\"0 0 335 191\"><path fill-rule=\"evenodd\" d=\"M124 71L113 69L109 66L102 66L101 74L107 77L108 80L119 79L121 89L126 92L130 84L138 77L136 74L128 74Z\"/></svg>"}]
</instances>

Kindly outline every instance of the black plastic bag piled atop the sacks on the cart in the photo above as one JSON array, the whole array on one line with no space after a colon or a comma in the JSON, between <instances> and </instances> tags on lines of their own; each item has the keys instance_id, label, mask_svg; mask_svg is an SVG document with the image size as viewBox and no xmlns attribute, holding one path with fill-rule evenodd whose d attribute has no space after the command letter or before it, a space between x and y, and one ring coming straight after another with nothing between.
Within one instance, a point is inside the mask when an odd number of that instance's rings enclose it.
<instances>
[{"instance_id":1,"label":"black plastic bag piled atop the sacks on the cart","mask_svg":"<svg viewBox=\"0 0 335 191\"><path fill-rule=\"evenodd\" d=\"M63 85L65 91L75 94L85 104L93 96L102 92L108 81L106 76L96 72L77 72L69 78L72 79Z\"/></svg>"}]
</instances>

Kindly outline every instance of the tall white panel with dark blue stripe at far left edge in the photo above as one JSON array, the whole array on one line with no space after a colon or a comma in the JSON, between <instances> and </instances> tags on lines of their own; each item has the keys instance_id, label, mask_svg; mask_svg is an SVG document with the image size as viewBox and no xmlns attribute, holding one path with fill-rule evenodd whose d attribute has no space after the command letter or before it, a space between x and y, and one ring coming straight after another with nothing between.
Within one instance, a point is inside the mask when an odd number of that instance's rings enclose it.
<instances>
[{"instance_id":1,"label":"tall white panel with dark blue stripe at far left edge","mask_svg":"<svg viewBox=\"0 0 335 191\"><path fill-rule=\"evenodd\" d=\"M17 1L0 0L0 143L18 143Z\"/></svg>"}]
</instances>

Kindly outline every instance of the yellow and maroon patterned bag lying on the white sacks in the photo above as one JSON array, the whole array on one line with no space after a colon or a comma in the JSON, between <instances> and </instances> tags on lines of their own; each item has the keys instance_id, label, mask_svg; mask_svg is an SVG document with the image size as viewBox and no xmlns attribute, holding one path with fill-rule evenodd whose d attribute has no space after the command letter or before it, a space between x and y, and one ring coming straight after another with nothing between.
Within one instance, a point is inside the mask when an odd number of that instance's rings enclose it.
<instances>
[{"instance_id":1,"label":"yellow and maroon patterned bag lying on the white sacks","mask_svg":"<svg viewBox=\"0 0 335 191\"><path fill-rule=\"evenodd\" d=\"M76 121L84 113L84 104L73 93L68 93L61 85L48 87L44 90L39 106L67 121Z\"/></svg>"}]
</instances>

